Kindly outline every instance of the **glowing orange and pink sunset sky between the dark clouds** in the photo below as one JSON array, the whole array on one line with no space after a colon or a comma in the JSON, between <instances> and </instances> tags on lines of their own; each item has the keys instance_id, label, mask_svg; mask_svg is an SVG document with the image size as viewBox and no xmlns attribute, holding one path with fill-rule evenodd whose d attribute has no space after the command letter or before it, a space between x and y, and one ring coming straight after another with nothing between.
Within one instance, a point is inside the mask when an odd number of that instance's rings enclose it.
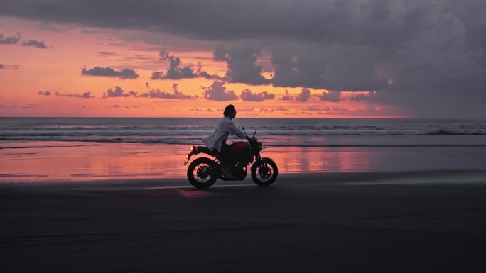
<instances>
[{"instance_id":1,"label":"glowing orange and pink sunset sky between the dark clouds","mask_svg":"<svg viewBox=\"0 0 486 273\"><path fill-rule=\"evenodd\" d=\"M227 91L237 96L244 89L252 94L267 92L274 99L265 101L214 101L205 99L203 92L215 79L151 79L156 71L166 71L167 60L161 60L159 52L179 57L180 67L190 65L209 74L225 76L227 64L212 60L212 45L197 50L183 45L183 38L173 38L163 44L156 40L146 43L136 40L129 31L113 33L103 30L50 26L0 18L0 34L5 37L21 35L21 40L38 40L47 48L0 44L0 116L113 116L113 117L219 117L227 104L237 106L239 117L277 118L396 118L406 117L403 111L392 106L371 104L366 101L343 99L357 92L342 93L341 101L322 101L317 95L328 92L324 89L308 89L312 96L306 101L297 101L302 87L284 88L271 85L250 86L225 82ZM170 36L168 36L171 39ZM180 40L177 40L180 39ZM257 65L263 65L266 79L271 77L272 67L266 66L268 56L261 55ZM119 77L94 77L82 74L82 69L111 67L132 69L139 74L136 79ZM175 86L176 84L176 86ZM148 97L104 97L109 89L120 87L125 92L138 94L158 90L173 94L176 90L190 99L161 99ZM90 92L90 98L81 97ZM50 96L45 96L50 94ZM367 92L365 93L367 94ZM284 96L291 100L284 101ZM401 114L400 114L401 113Z\"/></svg>"}]
</instances>

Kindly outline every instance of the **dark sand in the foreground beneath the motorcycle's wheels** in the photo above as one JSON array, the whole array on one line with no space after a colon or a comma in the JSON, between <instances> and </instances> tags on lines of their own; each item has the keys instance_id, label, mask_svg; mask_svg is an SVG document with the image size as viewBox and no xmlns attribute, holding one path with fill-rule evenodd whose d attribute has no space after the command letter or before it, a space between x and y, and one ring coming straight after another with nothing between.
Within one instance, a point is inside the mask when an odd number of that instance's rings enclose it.
<instances>
[{"instance_id":1,"label":"dark sand in the foreground beneath the motorcycle's wheels","mask_svg":"<svg viewBox=\"0 0 486 273\"><path fill-rule=\"evenodd\" d=\"M0 184L1 272L484 272L486 172Z\"/></svg>"}]
</instances>

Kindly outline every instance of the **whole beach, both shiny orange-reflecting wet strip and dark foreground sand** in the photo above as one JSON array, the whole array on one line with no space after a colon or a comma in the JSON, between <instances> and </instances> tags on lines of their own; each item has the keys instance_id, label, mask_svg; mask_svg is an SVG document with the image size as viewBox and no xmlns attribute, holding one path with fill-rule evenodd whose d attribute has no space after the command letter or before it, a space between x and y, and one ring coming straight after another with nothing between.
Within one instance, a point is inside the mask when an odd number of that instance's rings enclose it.
<instances>
[{"instance_id":1,"label":"whole beach, both shiny orange-reflecting wet strip and dark foreground sand","mask_svg":"<svg viewBox=\"0 0 486 273\"><path fill-rule=\"evenodd\" d=\"M1 271L486 268L485 147L270 147L275 184L207 190L188 184L186 150L1 149Z\"/></svg>"}]
</instances>

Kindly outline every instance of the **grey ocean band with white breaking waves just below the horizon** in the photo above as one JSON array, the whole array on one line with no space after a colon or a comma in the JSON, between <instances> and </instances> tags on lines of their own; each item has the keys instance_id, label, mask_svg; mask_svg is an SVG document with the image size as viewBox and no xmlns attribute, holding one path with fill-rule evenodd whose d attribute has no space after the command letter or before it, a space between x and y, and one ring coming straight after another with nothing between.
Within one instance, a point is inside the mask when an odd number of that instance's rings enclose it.
<instances>
[{"instance_id":1,"label":"grey ocean band with white breaking waves just below the horizon","mask_svg":"<svg viewBox=\"0 0 486 273\"><path fill-rule=\"evenodd\" d=\"M0 118L0 147L30 142L202 145L218 118ZM269 147L486 145L486 120L235 118Z\"/></svg>"}]
</instances>

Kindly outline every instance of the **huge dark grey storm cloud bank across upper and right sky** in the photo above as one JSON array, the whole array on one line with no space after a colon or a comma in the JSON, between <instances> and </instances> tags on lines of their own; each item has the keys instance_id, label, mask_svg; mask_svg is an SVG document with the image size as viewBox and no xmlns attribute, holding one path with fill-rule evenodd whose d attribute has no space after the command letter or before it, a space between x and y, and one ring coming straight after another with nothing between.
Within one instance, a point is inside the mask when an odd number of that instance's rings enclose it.
<instances>
[{"instance_id":1,"label":"huge dark grey storm cloud bank across upper and right sky","mask_svg":"<svg viewBox=\"0 0 486 273\"><path fill-rule=\"evenodd\" d=\"M436 117L486 114L480 103L486 101L484 11L484 0L0 3L0 14L6 16L155 30L222 44L244 41L234 48L215 50L215 60L227 62L229 82L379 91L366 99L409 107L417 116ZM248 42L253 45L247 46ZM261 50L268 55L262 56ZM271 67L259 64L264 57ZM273 70L273 77L262 76L266 69ZM173 66L154 77L195 74L193 69ZM236 96L217 91L206 95ZM320 98L338 100L335 94ZM305 101L306 94L296 99Z\"/></svg>"}]
</instances>

